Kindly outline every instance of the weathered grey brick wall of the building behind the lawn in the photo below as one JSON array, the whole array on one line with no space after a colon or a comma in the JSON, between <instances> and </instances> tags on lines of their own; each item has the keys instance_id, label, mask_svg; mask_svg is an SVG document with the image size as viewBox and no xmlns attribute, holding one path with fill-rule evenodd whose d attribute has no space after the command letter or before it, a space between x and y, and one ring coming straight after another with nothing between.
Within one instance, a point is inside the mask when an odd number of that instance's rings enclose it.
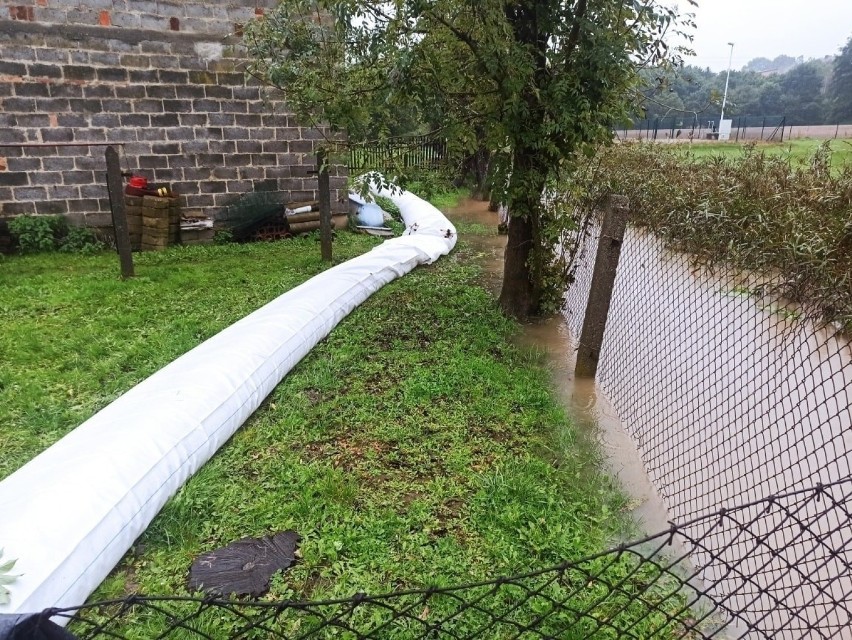
<instances>
[{"instance_id":1,"label":"weathered grey brick wall of the building behind the lawn","mask_svg":"<svg viewBox=\"0 0 852 640\"><path fill-rule=\"evenodd\" d=\"M0 218L66 214L108 226L104 147L168 182L190 210L221 216L273 191L316 197L321 135L242 72L241 25L256 0L34 0L0 5ZM73 146L68 146L69 144ZM345 168L332 168L344 211Z\"/></svg>"}]
</instances>

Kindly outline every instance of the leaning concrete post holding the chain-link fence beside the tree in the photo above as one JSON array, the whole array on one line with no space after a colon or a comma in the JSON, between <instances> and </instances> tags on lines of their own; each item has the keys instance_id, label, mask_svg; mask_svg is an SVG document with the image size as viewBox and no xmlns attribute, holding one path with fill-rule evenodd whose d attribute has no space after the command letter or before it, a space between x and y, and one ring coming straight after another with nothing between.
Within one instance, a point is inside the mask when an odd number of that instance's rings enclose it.
<instances>
[{"instance_id":1,"label":"leaning concrete post holding the chain-link fence beside the tree","mask_svg":"<svg viewBox=\"0 0 852 640\"><path fill-rule=\"evenodd\" d=\"M610 196L604 204L595 270L577 350L577 365L574 369L576 378L594 378L598 370L598 358L629 213L630 208L624 196Z\"/></svg>"}]
</instances>

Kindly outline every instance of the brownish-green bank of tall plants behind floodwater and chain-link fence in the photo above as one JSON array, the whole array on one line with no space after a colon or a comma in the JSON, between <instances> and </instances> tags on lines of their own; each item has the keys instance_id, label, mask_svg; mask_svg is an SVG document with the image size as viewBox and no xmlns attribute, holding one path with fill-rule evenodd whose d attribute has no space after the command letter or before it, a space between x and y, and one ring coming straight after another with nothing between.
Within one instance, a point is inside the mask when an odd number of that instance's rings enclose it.
<instances>
[{"instance_id":1,"label":"brownish-green bank of tall plants behind floodwater and chain-link fence","mask_svg":"<svg viewBox=\"0 0 852 640\"><path fill-rule=\"evenodd\" d=\"M661 145L601 155L604 188L632 220L706 265L762 279L763 290L852 329L852 166L832 171L828 143L807 163L746 146L694 158Z\"/></svg>"}]
</instances>

